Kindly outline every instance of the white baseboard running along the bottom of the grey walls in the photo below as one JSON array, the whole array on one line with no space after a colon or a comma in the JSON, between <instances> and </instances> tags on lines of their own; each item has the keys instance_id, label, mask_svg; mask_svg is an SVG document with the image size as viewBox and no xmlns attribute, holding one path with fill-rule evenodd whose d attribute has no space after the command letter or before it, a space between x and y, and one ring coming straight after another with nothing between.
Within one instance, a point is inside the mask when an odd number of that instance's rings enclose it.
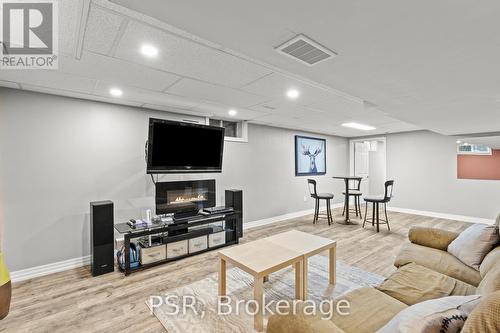
<instances>
[{"instance_id":1,"label":"white baseboard running along the bottom of the grey walls","mask_svg":"<svg viewBox=\"0 0 500 333\"><path fill-rule=\"evenodd\" d=\"M336 204L332 205L332 208L340 208L340 207L343 207L343 205L344 205L343 203L336 203ZM324 207L321 207L321 209L324 209ZM436 212L407 209L407 208L397 208L397 207L389 207L388 206L387 210L393 211L393 212L399 212L399 213L422 215L422 216L429 216L429 217L436 217L436 218L441 218L441 219L464 221L464 222L484 223L484 224L493 224L494 223L494 220L489 220L489 219L484 219L484 218L445 214L445 213L436 213ZM313 209L306 209L306 210L302 210L302 211L298 211L298 212L293 212L293 213L288 213L288 214L270 217L267 219L247 222L247 223L243 224L243 229L248 230L248 229L261 227L264 225L269 225L269 224L273 224L273 223L284 221L284 220L294 219L297 217L310 215L313 212L314 212ZM52 273L57 273L57 272L62 272L62 271L68 270L68 269L78 268L78 267L82 267L82 266L86 266L86 265L90 265L90 256L68 259L68 260L64 260L64 261L55 262L52 264L22 269L19 271L11 272L10 277L11 277L12 282L20 282L20 281L25 281L25 280L33 279L36 277L40 277L40 276L44 276L44 275L48 275L48 274L52 274Z\"/></svg>"}]
</instances>

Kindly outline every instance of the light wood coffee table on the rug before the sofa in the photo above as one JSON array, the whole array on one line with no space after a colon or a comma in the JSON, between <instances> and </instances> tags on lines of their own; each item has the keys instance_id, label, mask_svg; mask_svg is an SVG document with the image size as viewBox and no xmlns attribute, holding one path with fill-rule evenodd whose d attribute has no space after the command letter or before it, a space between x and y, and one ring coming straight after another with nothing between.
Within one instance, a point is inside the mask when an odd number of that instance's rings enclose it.
<instances>
[{"instance_id":1,"label":"light wood coffee table on the rug before the sofa","mask_svg":"<svg viewBox=\"0 0 500 333\"><path fill-rule=\"evenodd\" d=\"M219 296L226 296L226 263L229 262L254 277L254 300L259 311L254 316L254 328L262 331L263 283L269 274L293 266L295 298L307 298L307 259L325 250L330 251L329 282L335 284L336 241L297 230L263 238L219 251Z\"/></svg>"}]
</instances>

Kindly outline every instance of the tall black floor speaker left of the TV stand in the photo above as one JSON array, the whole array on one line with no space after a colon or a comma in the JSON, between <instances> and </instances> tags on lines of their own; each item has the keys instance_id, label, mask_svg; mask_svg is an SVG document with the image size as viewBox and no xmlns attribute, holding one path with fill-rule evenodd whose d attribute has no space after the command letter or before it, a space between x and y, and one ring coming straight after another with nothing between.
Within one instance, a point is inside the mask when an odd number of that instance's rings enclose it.
<instances>
[{"instance_id":1,"label":"tall black floor speaker left of the TV stand","mask_svg":"<svg viewBox=\"0 0 500 333\"><path fill-rule=\"evenodd\" d=\"M92 276L113 272L114 217L112 201L90 203L90 261Z\"/></svg>"}]
</instances>

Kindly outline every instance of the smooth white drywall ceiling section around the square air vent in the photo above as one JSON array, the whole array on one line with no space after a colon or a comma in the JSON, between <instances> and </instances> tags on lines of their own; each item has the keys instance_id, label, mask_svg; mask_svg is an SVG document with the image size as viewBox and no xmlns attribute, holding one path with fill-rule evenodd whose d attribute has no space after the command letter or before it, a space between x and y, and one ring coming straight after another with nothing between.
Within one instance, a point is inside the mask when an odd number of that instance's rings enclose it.
<instances>
[{"instance_id":1,"label":"smooth white drywall ceiling section around the square air vent","mask_svg":"<svg viewBox=\"0 0 500 333\"><path fill-rule=\"evenodd\" d=\"M492 37L500 29L496 0L480 6L431 0L333 0L314 6L289 0L112 1L372 101L391 117L422 128L443 134L500 130L500 43ZM338 56L305 66L279 54L273 47L291 32L308 35Z\"/></svg>"}]
</instances>

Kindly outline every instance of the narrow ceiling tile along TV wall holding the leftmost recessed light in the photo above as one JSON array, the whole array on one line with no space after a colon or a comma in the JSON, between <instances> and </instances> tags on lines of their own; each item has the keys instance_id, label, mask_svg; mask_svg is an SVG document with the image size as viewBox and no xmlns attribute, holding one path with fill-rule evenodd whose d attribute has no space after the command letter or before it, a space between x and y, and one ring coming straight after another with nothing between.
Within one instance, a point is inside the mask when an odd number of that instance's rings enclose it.
<instances>
[{"instance_id":1,"label":"narrow ceiling tile along TV wall holding the leftmost recessed light","mask_svg":"<svg viewBox=\"0 0 500 333\"><path fill-rule=\"evenodd\" d=\"M119 88L123 91L123 96L117 97L116 99L124 98L135 102L141 102L141 104L169 106L186 110L189 110L198 104L198 101L181 96L103 81L99 81L99 83L95 86L94 95L110 97L109 90L111 88Z\"/></svg>"}]
</instances>

